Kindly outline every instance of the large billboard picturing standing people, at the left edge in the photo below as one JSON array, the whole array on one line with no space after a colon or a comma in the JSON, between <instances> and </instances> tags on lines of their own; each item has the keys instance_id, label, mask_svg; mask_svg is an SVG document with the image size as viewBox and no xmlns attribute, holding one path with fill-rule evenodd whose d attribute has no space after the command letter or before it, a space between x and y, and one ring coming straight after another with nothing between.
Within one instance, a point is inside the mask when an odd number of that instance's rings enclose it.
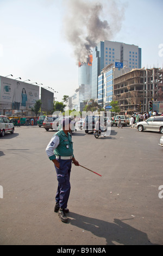
<instances>
[{"instance_id":1,"label":"large billboard picturing standing people, at the left edge","mask_svg":"<svg viewBox=\"0 0 163 256\"><path fill-rule=\"evenodd\" d=\"M39 86L0 76L0 108L28 110L39 100Z\"/></svg>"}]
</instances>

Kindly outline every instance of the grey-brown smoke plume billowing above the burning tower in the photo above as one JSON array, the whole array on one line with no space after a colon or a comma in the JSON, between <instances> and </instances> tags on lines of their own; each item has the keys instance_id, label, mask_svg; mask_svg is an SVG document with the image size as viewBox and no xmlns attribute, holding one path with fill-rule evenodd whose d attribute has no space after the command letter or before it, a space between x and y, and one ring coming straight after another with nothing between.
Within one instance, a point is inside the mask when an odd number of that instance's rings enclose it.
<instances>
[{"instance_id":1,"label":"grey-brown smoke plume billowing above the burning tower","mask_svg":"<svg viewBox=\"0 0 163 256\"><path fill-rule=\"evenodd\" d=\"M85 62L99 41L112 40L113 32L121 29L123 10L118 9L118 1L108 0L98 3L85 0L66 0L64 33L73 46L74 56L78 62ZM105 8L103 7L105 6ZM117 7L118 6L118 7ZM104 19L102 19L105 17ZM107 20L106 20L107 17ZM110 23L109 23L110 20Z\"/></svg>"}]
</instances>

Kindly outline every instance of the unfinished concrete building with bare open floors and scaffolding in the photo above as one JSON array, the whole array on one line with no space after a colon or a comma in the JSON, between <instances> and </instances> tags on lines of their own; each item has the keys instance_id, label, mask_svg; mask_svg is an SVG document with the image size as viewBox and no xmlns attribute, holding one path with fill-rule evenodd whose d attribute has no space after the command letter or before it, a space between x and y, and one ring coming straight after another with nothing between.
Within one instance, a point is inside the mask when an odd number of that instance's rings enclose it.
<instances>
[{"instance_id":1,"label":"unfinished concrete building with bare open floors and scaffolding","mask_svg":"<svg viewBox=\"0 0 163 256\"><path fill-rule=\"evenodd\" d=\"M121 113L148 112L148 102L163 100L163 69L134 69L114 79L114 100Z\"/></svg>"}]
</instances>

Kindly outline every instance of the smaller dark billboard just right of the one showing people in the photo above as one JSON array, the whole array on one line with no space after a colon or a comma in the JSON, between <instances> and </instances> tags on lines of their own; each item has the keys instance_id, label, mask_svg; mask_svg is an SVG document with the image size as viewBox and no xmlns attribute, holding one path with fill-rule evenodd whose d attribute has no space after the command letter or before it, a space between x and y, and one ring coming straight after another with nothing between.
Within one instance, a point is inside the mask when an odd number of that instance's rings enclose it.
<instances>
[{"instance_id":1,"label":"smaller dark billboard just right of the one showing people","mask_svg":"<svg viewBox=\"0 0 163 256\"><path fill-rule=\"evenodd\" d=\"M51 111L53 109L54 93L41 87L41 110Z\"/></svg>"}]
</instances>

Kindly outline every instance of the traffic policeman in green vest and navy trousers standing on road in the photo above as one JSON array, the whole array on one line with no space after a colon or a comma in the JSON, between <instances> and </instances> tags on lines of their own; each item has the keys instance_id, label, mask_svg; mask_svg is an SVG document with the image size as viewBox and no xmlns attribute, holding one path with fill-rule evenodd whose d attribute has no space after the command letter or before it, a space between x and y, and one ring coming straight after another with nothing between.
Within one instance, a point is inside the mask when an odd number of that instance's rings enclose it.
<instances>
[{"instance_id":1,"label":"traffic policeman in green vest and navy trousers standing on road","mask_svg":"<svg viewBox=\"0 0 163 256\"><path fill-rule=\"evenodd\" d=\"M73 143L70 134L71 131L71 119L65 118L61 121L62 129L55 133L51 141L47 145L46 153L49 160L53 161L55 170L57 172L58 189L55 196L54 212L58 212L58 215L62 222L67 222L66 216L67 202L70 196L70 172L72 162L79 166L78 161L73 155Z\"/></svg>"}]
</instances>

